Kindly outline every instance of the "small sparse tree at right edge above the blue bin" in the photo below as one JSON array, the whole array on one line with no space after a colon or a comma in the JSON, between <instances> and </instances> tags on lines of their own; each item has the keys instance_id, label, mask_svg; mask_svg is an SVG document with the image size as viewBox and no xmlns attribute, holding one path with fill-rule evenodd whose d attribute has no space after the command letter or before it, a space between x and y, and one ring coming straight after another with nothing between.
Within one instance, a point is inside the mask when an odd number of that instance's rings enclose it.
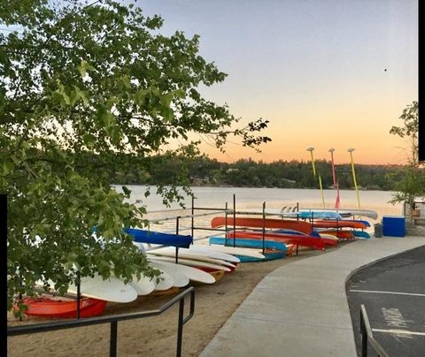
<instances>
[{"instance_id":1,"label":"small sparse tree at right edge above the blue bin","mask_svg":"<svg viewBox=\"0 0 425 357\"><path fill-rule=\"evenodd\" d=\"M393 176L396 182L395 193L391 203L406 202L410 207L410 219L413 221L414 202L417 197L425 195L425 169L418 161L419 112L418 102L406 106L402 115L403 126L392 126L390 133L407 138L409 142L409 157L406 167Z\"/></svg>"}]
</instances>

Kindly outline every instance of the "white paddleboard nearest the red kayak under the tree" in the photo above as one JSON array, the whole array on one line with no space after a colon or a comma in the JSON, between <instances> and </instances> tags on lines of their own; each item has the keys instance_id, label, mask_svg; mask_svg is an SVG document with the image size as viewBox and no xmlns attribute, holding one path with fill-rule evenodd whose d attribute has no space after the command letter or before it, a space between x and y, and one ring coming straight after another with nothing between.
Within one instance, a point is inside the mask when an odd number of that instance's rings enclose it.
<instances>
[{"instance_id":1,"label":"white paddleboard nearest the red kayak under the tree","mask_svg":"<svg viewBox=\"0 0 425 357\"><path fill-rule=\"evenodd\" d=\"M54 283L53 283L54 285ZM69 293L76 294L77 286L69 285ZM130 285L125 285L116 277L81 277L80 292L82 296L112 302L130 302L137 299L137 292Z\"/></svg>"}]
</instances>

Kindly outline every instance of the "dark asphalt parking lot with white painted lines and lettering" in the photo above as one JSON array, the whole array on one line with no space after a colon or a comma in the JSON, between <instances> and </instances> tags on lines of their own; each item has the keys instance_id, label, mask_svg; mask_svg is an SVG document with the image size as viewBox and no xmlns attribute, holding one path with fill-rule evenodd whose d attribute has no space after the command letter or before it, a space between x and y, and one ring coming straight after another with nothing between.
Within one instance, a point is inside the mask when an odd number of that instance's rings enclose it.
<instances>
[{"instance_id":1,"label":"dark asphalt parking lot with white painted lines and lettering","mask_svg":"<svg viewBox=\"0 0 425 357\"><path fill-rule=\"evenodd\" d=\"M364 304L375 339L390 356L425 356L425 247L377 262L346 286L358 355ZM371 347L368 355L375 356Z\"/></svg>"}]
</instances>

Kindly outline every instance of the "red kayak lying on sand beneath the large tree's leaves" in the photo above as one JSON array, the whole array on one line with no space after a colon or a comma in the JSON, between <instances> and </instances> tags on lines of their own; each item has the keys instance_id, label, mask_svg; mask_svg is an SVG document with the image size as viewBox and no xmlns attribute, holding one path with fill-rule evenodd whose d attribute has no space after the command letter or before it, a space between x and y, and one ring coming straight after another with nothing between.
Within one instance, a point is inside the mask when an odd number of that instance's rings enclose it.
<instances>
[{"instance_id":1,"label":"red kayak lying on sand beneath the large tree's leaves","mask_svg":"<svg viewBox=\"0 0 425 357\"><path fill-rule=\"evenodd\" d=\"M27 305L27 315L37 317L60 317L75 318L77 317L77 301L53 300L48 298L27 298L23 300ZM98 299L81 299L80 300L80 317L91 317L102 315L106 301Z\"/></svg>"}]
</instances>

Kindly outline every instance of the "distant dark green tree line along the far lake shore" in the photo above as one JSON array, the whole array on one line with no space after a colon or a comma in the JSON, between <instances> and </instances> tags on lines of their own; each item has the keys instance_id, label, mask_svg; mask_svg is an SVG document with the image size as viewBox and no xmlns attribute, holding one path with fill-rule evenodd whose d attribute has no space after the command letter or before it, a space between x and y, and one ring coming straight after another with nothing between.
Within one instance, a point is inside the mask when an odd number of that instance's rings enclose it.
<instances>
[{"instance_id":1,"label":"distant dark green tree line along the far lake shore","mask_svg":"<svg viewBox=\"0 0 425 357\"><path fill-rule=\"evenodd\" d=\"M126 160L117 156L116 160ZM93 158L93 162L101 162ZM137 162L139 164L137 164ZM315 162L321 175L323 188L331 188L332 167L326 160ZM121 165L126 166L126 165ZM395 178L403 166L356 164L356 179L360 189L392 190ZM313 177L311 162L283 161L255 162L250 159L235 163L220 163L207 156L183 157L174 155L151 156L132 159L126 170L108 172L112 184L122 185L190 185L190 186L241 186L279 188L319 188ZM354 186L349 163L336 165L336 178L341 189Z\"/></svg>"}]
</instances>

